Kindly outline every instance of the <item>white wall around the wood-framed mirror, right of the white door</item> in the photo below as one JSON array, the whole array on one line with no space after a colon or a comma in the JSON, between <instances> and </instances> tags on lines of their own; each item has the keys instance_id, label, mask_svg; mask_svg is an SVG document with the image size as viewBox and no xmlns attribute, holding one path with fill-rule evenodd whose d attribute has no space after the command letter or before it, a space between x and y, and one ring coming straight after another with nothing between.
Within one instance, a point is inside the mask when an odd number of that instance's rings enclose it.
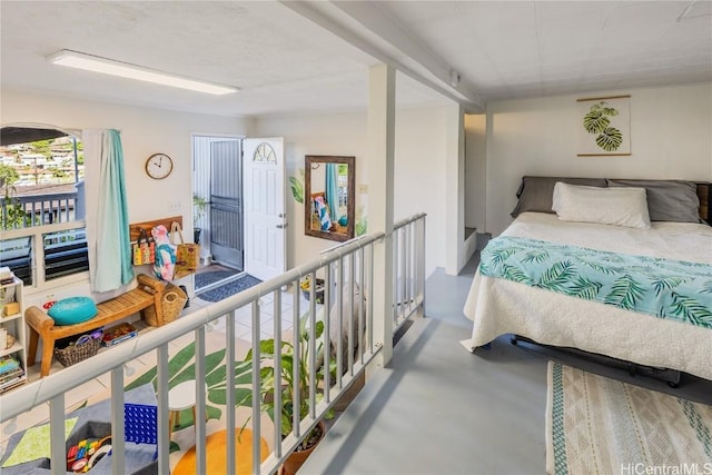
<instances>
[{"instance_id":1,"label":"white wall around the wood-framed mirror, right of the white door","mask_svg":"<svg viewBox=\"0 0 712 475\"><path fill-rule=\"evenodd\" d=\"M445 266L445 152L446 108L396 110L395 220L427 212L426 275ZM299 175L305 155L356 157L356 207L368 214L366 113L334 113L256 119L255 133L285 138L287 176ZM304 177L300 177L301 179ZM366 192L362 191L365 185ZM304 205L287 198L289 237L287 266L313 259L336 241L304 235Z\"/></svg>"}]
</instances>

